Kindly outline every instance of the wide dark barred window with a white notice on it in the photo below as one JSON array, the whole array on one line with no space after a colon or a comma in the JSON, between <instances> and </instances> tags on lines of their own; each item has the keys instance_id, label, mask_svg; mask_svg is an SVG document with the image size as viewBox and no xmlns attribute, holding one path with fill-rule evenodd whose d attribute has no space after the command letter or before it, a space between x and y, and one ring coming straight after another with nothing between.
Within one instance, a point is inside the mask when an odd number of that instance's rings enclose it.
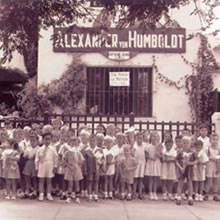
<instances>
[{"instance_id":1,"label":"wide dark barred window with a white notice on it","mask_svg":"<svg viewBox=\"0 0 220 220\"><path fill-rule=\"evenodd\" d=\"M110 85L111 73L116 76L126 73L126 77L116 77L116 84ZM88 114L128 115L133 112L137 116L151 117L152 68L88 67L86 106Z\"/></svg>"}]
</instances>

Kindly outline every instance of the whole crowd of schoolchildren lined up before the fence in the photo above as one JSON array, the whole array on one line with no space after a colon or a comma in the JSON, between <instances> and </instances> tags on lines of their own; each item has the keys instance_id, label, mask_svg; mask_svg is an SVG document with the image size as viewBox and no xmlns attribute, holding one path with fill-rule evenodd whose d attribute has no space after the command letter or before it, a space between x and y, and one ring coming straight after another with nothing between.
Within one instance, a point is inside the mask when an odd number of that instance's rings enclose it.
<instances>
[{"instance_id":1,"label":"whole crowd of schoolchildren lined up before the fence","mask_svg":"<svg viewBox=\"0 0 220 220\"><path fill-rule=\"evenodd\" d=\"M76 135L77 134L77 135ZM0 129L0 184L5 199L47 199L66 202L99 199L187 200L218 197L220 175L219 137L208 137L200 126L199 136L187 129L181 136L157 131L125 133L113 124L86 126L76 132L59 119ZM147 196L148 197L148 196Z\"/></svg>"}]
</instances>

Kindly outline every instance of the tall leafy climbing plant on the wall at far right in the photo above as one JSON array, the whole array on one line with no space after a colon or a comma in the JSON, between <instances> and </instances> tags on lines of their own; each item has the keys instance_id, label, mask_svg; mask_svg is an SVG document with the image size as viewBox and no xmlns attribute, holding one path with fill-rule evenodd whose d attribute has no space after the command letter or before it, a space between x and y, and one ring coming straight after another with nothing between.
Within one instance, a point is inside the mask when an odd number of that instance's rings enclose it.
<instances>
[{"instance_id":1,"label":"tall leafy climbing plant on the wall at far right","mask_svg":"<svg viewBox=\"0 0 220 220\"><path fill-rule=\"evenodd\" d=\"M186 80L186 89L189 95L193 120L197 123L210 122L212 115L213 76L212 73L219 69L213 56L207 38L198 34L201 44L198 50L198 63L196 74L190 75Z\"/></svg>"}]
</instances>

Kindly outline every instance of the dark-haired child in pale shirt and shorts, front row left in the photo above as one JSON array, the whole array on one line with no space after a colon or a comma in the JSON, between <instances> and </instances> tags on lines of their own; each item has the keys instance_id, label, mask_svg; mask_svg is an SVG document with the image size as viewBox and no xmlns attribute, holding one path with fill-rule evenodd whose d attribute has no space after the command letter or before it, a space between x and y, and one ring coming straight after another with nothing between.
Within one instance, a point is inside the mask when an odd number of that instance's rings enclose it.
<instances>
[{"instance_id":1,"label":"dark-haired child in pale shirt and shorts, front row left","mask_svg":"<svg viewBox=\"0 0 220 220\"><path fill-rule=\"evenodd\" d=\"M39 178L39 201L44 200L44 183L47 184L47 199L52 201L52 178L57 169L57 152L51 146L52 134L43 134L43 146L40 147L35 157L35 167Z\"/></svg>"}]
</instances>

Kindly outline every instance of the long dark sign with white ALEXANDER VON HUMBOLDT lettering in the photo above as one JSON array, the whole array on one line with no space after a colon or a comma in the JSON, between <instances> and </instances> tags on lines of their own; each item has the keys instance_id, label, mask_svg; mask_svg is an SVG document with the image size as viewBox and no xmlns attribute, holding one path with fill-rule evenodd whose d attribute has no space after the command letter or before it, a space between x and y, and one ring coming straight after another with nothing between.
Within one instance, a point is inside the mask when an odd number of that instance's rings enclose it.
<instances>
[{"instance_id":1,"label":"long dark sign with white ALEXANDER VON HUMBOLDT lettering","mask_svg":"<svg viewBox=\"0 0 220 220\"><path fill-rule=\"evenodd\" d=\"M185 29L116 29L96 34L92 29L54 29L55 52L135 51L146 53L184 53Z\"/></svg>"}]
</instances>

